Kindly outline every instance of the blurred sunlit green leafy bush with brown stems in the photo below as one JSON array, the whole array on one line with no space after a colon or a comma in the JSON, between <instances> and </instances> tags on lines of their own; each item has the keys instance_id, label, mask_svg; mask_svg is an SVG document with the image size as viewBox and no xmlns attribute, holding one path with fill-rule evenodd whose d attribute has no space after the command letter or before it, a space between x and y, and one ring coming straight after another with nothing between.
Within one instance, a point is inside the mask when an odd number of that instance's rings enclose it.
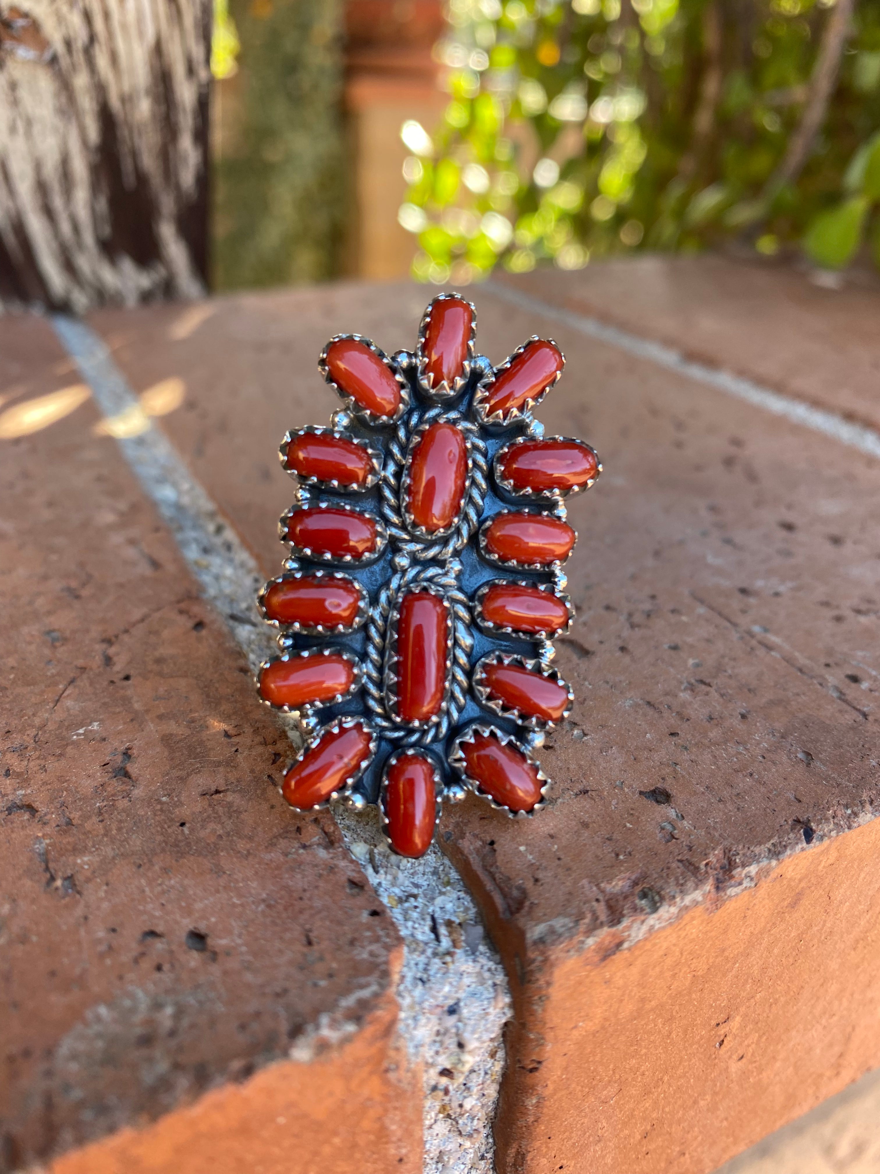
<instances>
[{"instance_id":1,"label":"blurred sunlit green leafy bush with brown stems","mask_svg":"<svg viewBox=\"0 0 880 1174\"><path fill-rule=\"evenodd\" d=\"M421 279L736 236L880 264L880 0L449 0L400 223Z\"/></svg>"}]
</instances>

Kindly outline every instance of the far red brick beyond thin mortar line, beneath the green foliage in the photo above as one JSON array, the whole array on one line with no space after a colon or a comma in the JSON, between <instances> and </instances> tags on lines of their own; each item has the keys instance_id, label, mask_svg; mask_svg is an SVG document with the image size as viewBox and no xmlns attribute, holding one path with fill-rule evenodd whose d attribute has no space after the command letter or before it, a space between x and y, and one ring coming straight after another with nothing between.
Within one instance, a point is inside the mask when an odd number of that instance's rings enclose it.
<instances>
[{"instance_id":1,"label":"far red brick beyond thin mortar line, beneath the green foliage","mask_svg":"<svg viewBox=\"0 0 880 1174\"><path fill-rule=\"evenodd\" d=\"M688 358L880 427L880 288L821 289L774 262L643 254L502 278Z\"/></svg>"}]
</instances>

